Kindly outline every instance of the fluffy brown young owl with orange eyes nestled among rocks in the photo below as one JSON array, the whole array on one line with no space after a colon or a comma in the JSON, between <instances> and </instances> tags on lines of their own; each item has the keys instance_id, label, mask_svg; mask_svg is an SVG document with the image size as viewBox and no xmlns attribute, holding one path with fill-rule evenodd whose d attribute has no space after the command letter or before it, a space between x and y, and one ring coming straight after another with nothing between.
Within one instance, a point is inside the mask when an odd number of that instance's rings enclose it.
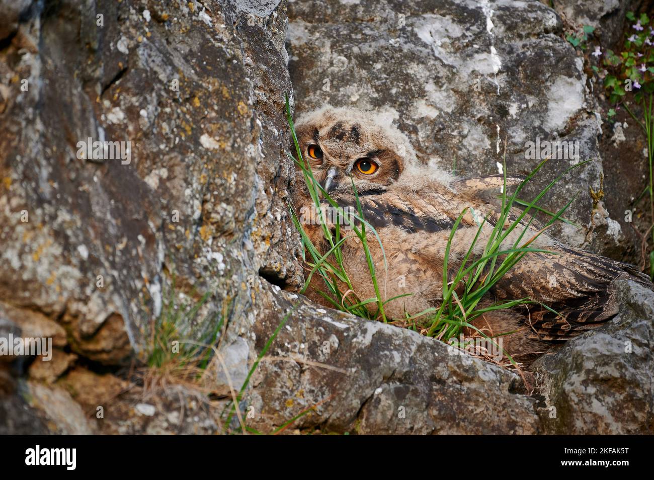
<instances>
[{"instance_id":1,"label":"fluffy brown young owl with orange eyes nestled among rocks","mask_svg":"<svg viewBox=\"0 0 654 480\"><path fill-rule=\"evenodd\" d=\"M471 245L472 256L483 256L485 239L502 209L494 197L504 176L456 179L421 165L409 139L374 112L326 106L302 116L296 132L303 160L339 206L356 211L353 182L356 186L364 218L383 245L382 251L376 237L368 234L381 296L383 300L395 298L385 305L387 317L401 320L438 307L443 299L443 259L456 218L467 208L451 242L448 278L453 278ZM508 177L506 182L521 180ZM299 167L292 198L296 211L313 203ZM509 222L520 213L513 209ZM483 218L488 220L475 242ZM303 222L303 229L326 254L329 248L322 227L317 218L311 220ZM649 277L636 267L568 248L536 222L528 224L529 220L525 216L509 233L502 250L513 248L522 235L519 245L530 241L530 248L547 252L530 252L522 258L494 284L484 305L528 298L557 313L532 304L490 312L473 322L487 335L515 332L503 337L504 349L514 357L522 356L523 361L542 352L547 341L569 339L615 316L616 279L633 279L651 288ZM509 222L502 227L508 228ZM360 241L350 235L342 250L354 296L360 300L375 297ZM307 296L330 306L317 293L325 290L321 283L313 277ZM368 306L371 312L377 309L375 303Z\"/></svg>"}]
</instances>

